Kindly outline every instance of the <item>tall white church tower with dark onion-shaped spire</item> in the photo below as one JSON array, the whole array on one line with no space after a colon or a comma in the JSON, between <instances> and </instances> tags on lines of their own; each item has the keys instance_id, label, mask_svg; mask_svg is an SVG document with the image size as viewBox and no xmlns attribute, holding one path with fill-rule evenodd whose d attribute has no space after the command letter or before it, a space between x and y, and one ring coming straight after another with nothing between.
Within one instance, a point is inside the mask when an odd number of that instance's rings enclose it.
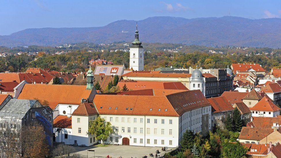
<instances>
[{"instance_id":1,"label":"tall white church tower with dark onion-shaped spire","mask_svg":"<svg viewBox=\"0 0 281 158\"><path fill-rule=\"evenodd\" d=\"M138 40L138 24L136 24L135 40L132 42L132 47L130 48L130 69L134 71L143 71L143 46Z\"/></svg>"}]
</instances>

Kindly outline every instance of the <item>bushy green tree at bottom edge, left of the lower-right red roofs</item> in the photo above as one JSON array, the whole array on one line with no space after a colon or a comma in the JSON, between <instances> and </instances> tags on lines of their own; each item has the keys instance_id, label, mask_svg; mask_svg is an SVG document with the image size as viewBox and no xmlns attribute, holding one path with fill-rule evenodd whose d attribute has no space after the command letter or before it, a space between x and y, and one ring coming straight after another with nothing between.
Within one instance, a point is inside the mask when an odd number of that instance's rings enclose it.
<instances>
[{"instance_id":1,"label":"bushy green tree at bottom edge, left of the lower-right red roofs","mask_svg":"<svg viewBox=\"0 0 281 158\"><path fill-rule=\"evenodd\" d=\"M239 142L224 142L222 144L221 157L246 158L247 151L248 149L244 148Z\"/></svg>"}]
</instances>

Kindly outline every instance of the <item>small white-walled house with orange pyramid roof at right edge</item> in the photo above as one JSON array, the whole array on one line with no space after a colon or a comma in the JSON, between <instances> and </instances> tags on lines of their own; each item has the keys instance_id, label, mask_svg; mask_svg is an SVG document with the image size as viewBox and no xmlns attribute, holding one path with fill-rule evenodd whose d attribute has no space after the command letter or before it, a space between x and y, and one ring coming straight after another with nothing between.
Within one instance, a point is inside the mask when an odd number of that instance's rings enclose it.
<instances>
[{"instance_id":1,"label":"small white-walled house with orange pyramid roof at right edge","mask_svg":"<svg viewBox=\"0 0 281 158\"><path fill-rule=\"evenodd\" d=\"M257 104L249 109L252 113L252 117L276 117L280 115L280 108L266 97L263 97Z\"/></svg>"}]
</instances>

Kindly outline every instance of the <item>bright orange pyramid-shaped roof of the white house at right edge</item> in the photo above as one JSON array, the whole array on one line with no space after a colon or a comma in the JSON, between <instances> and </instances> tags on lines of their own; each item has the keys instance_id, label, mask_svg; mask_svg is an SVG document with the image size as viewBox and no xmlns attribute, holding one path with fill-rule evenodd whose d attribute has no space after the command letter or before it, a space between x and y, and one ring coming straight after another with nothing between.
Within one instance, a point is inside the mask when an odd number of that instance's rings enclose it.
<instances>
[{"instance_id":1,"label":"bright orange pyramid-shaped roof of the white house at right edge","mask_svg":"<svg viewBox=\"0 0 281 158\"><path fill-rule=\"evenodd\" d=\"M254 111L280 111L280 108L276 106L273 102L263 97L257 104L250 108Z\"/></svg>"}]
</instances>

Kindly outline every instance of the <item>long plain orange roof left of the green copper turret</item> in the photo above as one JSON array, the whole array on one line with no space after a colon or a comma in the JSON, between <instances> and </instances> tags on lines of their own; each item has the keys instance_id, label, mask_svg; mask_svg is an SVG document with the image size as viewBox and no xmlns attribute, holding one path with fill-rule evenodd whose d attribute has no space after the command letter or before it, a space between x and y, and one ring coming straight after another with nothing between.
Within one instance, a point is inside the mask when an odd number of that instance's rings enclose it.
<instances>
[{"instance_id":1,"label":"long plain orange roof left of the green copper turret","mask_svg":"<svg viewBox=\"0 0 281 158\"><path fill-rule=\"evenodd\" d=\"M46 100L54 109L59 103L79 105L82 98L89 98L91 91L85 85L25 84L18 99Z\"/></svg>"}]
</instances>

